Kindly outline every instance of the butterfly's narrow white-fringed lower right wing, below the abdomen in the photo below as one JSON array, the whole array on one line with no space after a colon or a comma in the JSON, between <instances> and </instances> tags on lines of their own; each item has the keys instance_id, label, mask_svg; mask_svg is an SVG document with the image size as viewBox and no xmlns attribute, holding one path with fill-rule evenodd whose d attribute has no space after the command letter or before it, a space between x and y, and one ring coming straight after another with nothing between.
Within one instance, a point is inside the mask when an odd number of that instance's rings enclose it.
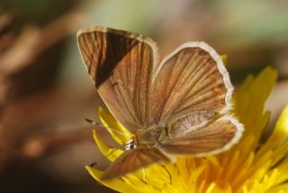
<instances>
[{"instance_id":1,"label":"butterfly's narrow white-fringed lower right wing, below the abdomen","mask_svg":"<svg viewBox=\"0 0 288 193\"><path fill-rule=\"evenodd\" d=\"M240 132L239 132L240 131ZM187 130L159 146L170 154L203 156L223 152L238 142L243 126L231 116L222 116L196 130Z\"/></svg>"}]
</instances>

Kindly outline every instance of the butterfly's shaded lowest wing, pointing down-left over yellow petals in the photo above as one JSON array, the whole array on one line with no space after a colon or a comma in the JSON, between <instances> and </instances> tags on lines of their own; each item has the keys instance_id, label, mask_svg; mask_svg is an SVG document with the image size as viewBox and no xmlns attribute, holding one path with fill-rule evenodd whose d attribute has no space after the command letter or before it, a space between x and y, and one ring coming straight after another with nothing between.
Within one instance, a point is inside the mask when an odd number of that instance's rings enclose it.
<instances>
[{"instance_id":1,"label":"butterfly's shaded lowest wing, pointing down-left over yellow petals","mask_svg":"<svg viewBox=\"0 0 288 193\"><path fill-rule=\"evenodd\" d=\"M136 148L123 152L103 173L101 179L123 176L158 161L169 161L157 148Z\"/></svg>"}]
</instances>

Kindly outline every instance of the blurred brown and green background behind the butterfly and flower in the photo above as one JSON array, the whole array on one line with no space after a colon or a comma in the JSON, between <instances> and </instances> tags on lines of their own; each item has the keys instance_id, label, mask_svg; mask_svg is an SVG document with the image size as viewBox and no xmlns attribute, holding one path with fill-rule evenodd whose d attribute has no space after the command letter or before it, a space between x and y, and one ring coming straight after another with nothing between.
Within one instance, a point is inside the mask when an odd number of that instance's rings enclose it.
<instances>
[{"instance_id":1,"label":"blurred brown and green background behind the butterfly and flower","mask_svg":"<svg viewBox=\"0 0 288 193\"><path fill-rule=\"evenodd\" d=\"M84 120L97 119L103 103L77 50L79 29L142 33L162 58L185 41L206 41L228 55L236 87L272 65L272 127L288 104L287 10L284 0L1 0L0 192L112 192L85 170L107 163Z\"/></svg>"}]
</instances>

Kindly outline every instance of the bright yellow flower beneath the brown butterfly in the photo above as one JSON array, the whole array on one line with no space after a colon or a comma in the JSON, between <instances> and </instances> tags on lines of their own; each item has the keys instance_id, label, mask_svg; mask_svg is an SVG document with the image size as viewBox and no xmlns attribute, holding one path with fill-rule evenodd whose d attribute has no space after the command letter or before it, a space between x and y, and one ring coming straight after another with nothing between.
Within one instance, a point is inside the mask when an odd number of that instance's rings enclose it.
<instances>
[{"instance_id":1,"label":"bright yellow flower beneath the brown butterfly","mask_svg":"<svg viewBox=\"0 0 288 193\"><path fill-rule=\"evenodd\" d=\"M287 192L288 190L288 106L273 132L263 139L270 113L266 99L275 85L276 72L266 68L257 77L248 76L234 95L235 113L245 133L228 152L202 158L178 158L174 163L156 163L127 176L101 181L102 170L86 166L104 186L120 192ZM132 133L102 108L103 125L116 142L128 142ZM94 139L104 155L114 161L121 150L108 147L94 131Z\"/></svg>"}]
</instances>

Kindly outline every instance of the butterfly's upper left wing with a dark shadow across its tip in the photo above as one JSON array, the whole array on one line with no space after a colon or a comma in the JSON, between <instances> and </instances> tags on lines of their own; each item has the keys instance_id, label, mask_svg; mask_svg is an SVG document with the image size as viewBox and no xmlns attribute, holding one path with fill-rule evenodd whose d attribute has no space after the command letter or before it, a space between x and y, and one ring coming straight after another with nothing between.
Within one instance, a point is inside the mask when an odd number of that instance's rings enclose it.
<instances>
[{"instance_id":1,"label":"butterfly's upper left wing with a dark shadow across its tip","mask_svg":"<svg viewBox=\"0 0 288 193\"><path fill-rule=\"evenodd\" d=\"M156 43L105 27L82 30L77 41L86 69L112 115L132 132L145 127Z\"/></svg>"}]
</instances>

